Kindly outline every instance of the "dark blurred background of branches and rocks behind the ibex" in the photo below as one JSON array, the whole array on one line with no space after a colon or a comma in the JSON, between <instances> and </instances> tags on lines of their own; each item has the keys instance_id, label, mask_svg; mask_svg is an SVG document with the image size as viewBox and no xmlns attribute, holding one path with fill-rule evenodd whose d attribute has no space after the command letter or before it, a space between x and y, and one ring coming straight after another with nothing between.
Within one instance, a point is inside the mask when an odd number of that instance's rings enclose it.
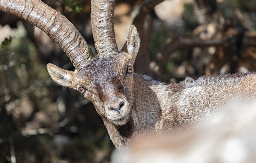
<instances>
[{"instance_id":1,"label":"dark blurred background of branches and rocks behind the ibex","mask_svg":"<svg viewBox=\"0 0 256 163\"><path fill-rule=\"evenodd\" d=\"M43 2L96 52L89 0ZM138 73L173 83L256 70L256 0L165 0L142 13L145 2L116 0L114 13L119 49L130 25L138 26ZM0 163L109 162L114 145L92 103L55 84L47 63L74 70L44 32L0 12Z\"/></svg>"}]
</instances>

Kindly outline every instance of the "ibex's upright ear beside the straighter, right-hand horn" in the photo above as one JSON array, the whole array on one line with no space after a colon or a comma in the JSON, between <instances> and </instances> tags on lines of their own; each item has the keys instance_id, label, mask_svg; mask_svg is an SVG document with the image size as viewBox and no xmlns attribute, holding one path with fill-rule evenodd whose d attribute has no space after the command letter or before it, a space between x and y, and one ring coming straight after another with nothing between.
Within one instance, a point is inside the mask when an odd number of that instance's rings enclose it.
<instances>
[{"instance_id":1,"label":"ibex's upright ear beside the straighter, right-hand horn","mask_svg":"<svg viewBox=\"0 0 256 163\"><path fill-rule=\"evenodd\" d=\"M134 25L132 25L128 33L126 45L124 45L121 51L128 53L132 57L132 60L134 63L137 53L139 51L139 48L140 48L139 33L137 31L137 28Z\"/></svg>"}]
</instances>

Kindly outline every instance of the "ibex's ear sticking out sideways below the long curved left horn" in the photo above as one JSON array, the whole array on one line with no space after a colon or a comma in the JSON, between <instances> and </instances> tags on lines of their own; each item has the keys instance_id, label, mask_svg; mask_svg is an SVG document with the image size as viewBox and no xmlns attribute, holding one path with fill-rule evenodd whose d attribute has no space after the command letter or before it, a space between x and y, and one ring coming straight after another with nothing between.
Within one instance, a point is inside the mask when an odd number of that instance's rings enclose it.
<instances>
[{"instance_id":1,"label":"ibex's ear sticking out sideways below the long curved left horn","mask_svg":"<svg viewBox=\"0 0 256 163\"><path fill-rule=\"evenodd\" d=\"M55 81L57 84L76 89L72 85L72 80L74 75L73 71L61 69L60 67L55 66L54 64L51 64L51 63L48 63L46 67L47 67L48 73L52 77L52 80Z\"/></svg>"}]
</instances>

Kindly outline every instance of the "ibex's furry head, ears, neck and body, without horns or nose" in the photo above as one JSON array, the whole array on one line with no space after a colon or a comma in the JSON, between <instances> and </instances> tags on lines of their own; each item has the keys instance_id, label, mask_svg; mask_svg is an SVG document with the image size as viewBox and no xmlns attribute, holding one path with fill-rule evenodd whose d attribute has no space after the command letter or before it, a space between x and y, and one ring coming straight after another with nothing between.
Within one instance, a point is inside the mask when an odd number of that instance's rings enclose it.
<instances>
[{"instance_id":1,"label":"ibex's furry head, ears, neck and body, without horns or nose","mask_svg":"<svg viewBox=\"0 0 256 163\"><path fill-rule=\"evenodd\" d=\"M126 148L133 137L146 131L177 132L195 127L197 122L218 114L234 96L255 96L255 73L223 76L226 80L243 77L243 85L220 86L215 81L212 85L191 87L184 82L158 82L134 71L127 73L127 66L135 61L139 42L137 30L132 26L126 46L118 55L100 57L75 72L47 65L56 83L76 90L81 86L86 89L84 97L94 104L117 148ZM113 97L125 102L119 112L109 110L106 105Z\"/></svg>"}]
</instances>

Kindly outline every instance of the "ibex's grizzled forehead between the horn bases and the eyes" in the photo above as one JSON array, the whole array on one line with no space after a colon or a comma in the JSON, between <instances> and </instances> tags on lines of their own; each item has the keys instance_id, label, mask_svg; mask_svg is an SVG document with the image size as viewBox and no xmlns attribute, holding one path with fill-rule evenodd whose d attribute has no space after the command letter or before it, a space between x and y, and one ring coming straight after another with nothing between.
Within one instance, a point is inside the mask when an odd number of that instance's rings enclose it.
<instances>
[{"instance_id":1,"label":"ibex's grizzled forehead between the horn bases and the eyes","mask_svg":"<svg viewBox=\"0 0 256 163\"><path fill-rule=\"evenodd\" d=\"M76 73L78 79L99 80L123 74L131 58L126 53L100 57Z\"/></svg>"}]
</instances>

